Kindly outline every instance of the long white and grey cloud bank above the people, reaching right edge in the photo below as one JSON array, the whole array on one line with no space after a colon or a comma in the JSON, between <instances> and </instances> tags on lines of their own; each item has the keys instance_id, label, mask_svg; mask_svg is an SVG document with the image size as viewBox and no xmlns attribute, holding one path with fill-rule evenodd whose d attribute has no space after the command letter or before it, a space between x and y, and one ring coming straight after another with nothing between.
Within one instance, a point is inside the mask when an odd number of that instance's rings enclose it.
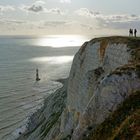
<instances>
[{"instance_id":1,"label":"long white and grey cloud bank above the people, reaching right edge","mask_svg":"<svg viewBox=\"0 0 140 140\"><path fill-rule=\"evenodd\" d=\"M87 8L80 8L75 11L79 16L88 17L97 21L97 26L100 28L115 28L126 29L130 27L139 28L140 16L139 15L105 15L100 12L95 12Z\"/></svg>"}]
</instances>

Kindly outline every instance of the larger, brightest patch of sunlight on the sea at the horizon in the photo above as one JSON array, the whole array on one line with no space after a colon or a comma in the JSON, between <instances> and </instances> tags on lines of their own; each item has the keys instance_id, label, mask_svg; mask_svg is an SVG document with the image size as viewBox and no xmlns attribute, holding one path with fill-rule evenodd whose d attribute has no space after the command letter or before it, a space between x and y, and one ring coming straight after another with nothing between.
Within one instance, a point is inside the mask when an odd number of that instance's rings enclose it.
<instances>
[{"instance_id":1,"label":"larger, brightest patch of sunlight on the sea at the horizon","mask_svg":"<svg viewBox=\"0 0 140 140\"><path fill-rule=\"evenodd\" d=\"M51 46L54 48L81 46L87 38L80 35L51 35L38 39L38 46Z\"/></svg>"}]
</instances>

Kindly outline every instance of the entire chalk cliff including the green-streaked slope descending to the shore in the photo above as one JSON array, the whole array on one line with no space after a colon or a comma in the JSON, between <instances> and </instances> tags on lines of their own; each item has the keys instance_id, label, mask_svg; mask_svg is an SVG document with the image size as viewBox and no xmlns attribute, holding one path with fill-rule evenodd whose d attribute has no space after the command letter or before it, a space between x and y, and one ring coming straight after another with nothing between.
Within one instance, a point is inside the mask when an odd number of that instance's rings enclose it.
<instances>
[{"instance_id":1,"label":"entire chalk cliff including the green-streaked slope descending to the shore","mask_svg":"<svg viewBox=\"0 0 140 140\"><path fill-rule=\"evenodd\" d=\"M140 39L93 39L77 52L69 79L46 99L40 115L31 118L19 139L92 139L96 129L134 91L140 91ZM139 94L137 100L138 109Z\"/></svg>"}]
</instances>

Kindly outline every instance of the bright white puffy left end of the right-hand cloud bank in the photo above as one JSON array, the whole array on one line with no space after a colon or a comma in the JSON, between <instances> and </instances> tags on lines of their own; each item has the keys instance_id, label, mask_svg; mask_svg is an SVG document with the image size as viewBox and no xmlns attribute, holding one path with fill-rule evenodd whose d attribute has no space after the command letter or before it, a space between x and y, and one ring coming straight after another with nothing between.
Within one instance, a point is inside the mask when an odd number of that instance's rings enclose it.
<instances>
[{"instance_id":1,"label":"bright white puffy left end of the right-hand cloud bank","mask_svg":"<svg viewBox=\"0 0 140 140\"><path fill-rule=\"evenodd\" d=\"M86 16L86 17L92 17L92 18L100 15L100 12L95 12L87 8L80 8L76 10L75 13L80 16Z\"/></svg>"}]
</instances>

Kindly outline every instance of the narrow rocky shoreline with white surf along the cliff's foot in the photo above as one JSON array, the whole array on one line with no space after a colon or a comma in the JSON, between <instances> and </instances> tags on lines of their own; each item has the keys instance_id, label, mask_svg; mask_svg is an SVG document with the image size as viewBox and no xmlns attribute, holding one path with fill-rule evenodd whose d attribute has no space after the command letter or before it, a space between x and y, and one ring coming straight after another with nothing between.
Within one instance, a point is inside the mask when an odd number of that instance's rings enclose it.
<instances>
[{"instance_id":1,"label":"narrow rocky shoreline with white surf along the cliff's foot","mask_svg":"<svg viewBox=\"0 0 140 140\"><path fill-rule=\"evenodd\" d=\"M57 79L57 80L52 80L55 82L59 82L62 84L62 87L64 86L64 84L67 81L67 78L65 79ZM38 106L38 108L36 110L34 110L34 112L31 112L21 123L21 126L16 128L13 132L11 132L8 135L8 138L6 136L6 139L4 138L4 140L21 140L24 135L27 135L28 133L31 133L34 131L34 129L37 127L37 117L36 116L40 116L41 113L43 112L44 108L45 108L45 103L47 102L48 98L50 98L52 96L52 94L55 94L58 90L60 90L62 87L58 87L58 89L56 89L55 91L53 90L51 94L49 94L47 97L45 97L43 103L41 106ZM36 125L34 125L36 124Z\"/></svg>"}]
</instances>

